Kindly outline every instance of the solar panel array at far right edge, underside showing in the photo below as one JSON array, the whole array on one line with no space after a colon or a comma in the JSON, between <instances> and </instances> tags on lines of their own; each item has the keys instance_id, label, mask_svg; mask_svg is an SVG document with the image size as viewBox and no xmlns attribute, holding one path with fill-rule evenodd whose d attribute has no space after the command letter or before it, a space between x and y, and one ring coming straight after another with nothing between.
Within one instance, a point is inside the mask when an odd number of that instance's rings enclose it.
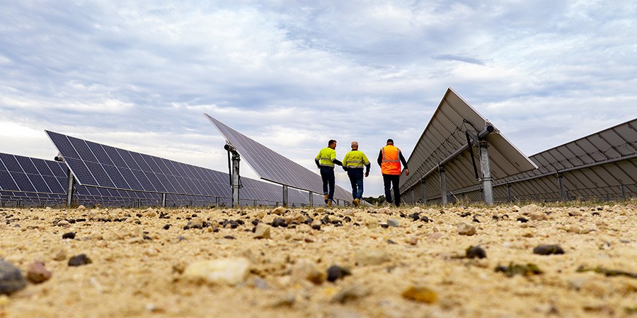
<instances>
[{"instance_id":1,"label":"solar panel array at far right edge, underside showing","mask_svg":"<svg viewBox=\"0 0 637 318\"><path fill-rule=\"evenodd\" d=\"M530 159L538 169L495 180L497 201L629 199L637 196L637 119L551 148ZM560 179L561 177L561 179ZM562 184L562 191L559 187ZM479 198L479 189L459 192Z\"/></svg>"}]
</instances>

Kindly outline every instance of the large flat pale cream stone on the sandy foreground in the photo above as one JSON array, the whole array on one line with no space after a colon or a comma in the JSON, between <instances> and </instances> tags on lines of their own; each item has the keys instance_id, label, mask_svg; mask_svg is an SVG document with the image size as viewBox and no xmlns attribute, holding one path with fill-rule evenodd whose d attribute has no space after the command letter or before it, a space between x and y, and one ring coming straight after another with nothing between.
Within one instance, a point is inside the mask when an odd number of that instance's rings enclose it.
<instances>
[{"instance_id":1,"label":"large flat pale cream stone on the sandy foreground","mask_svg":"<svg viewBox=\"0 0 637 318\"><path fill-rule=\"evenodd\" d=\"M204 281L212 284L237 285L250 269L250 261L243 257L197 261L188 265L183 276L190 281Z\"/></svg>"}]
</instances>

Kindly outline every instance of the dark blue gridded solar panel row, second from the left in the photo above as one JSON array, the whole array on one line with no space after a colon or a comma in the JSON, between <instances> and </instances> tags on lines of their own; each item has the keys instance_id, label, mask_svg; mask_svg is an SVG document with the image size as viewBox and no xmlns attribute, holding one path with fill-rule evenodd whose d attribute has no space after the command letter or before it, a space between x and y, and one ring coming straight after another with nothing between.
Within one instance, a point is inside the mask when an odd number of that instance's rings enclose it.
<instances>
[{"instance_id":1,"label":"dark blue gridded solar panel row, second from the left","mask_svg":"<svg viewBox=\"0 0 637 318\"><path fill-rule=\"evenodd\" d=\"M76 182L80 187L86 187L78 190L80 196L161 202L161 195L156 194L167 194L167 199L178 205L224 204L231 198L229 175L225 172L46 132ZM281 201L282 187L276 184L249 178L242 178L242 182L241 191L246 200L264 205ZM142 195L144 192L147 194ZM289 203L302 205L307 201L307 198L299 197Z\"/></svg>"}]
</instances>

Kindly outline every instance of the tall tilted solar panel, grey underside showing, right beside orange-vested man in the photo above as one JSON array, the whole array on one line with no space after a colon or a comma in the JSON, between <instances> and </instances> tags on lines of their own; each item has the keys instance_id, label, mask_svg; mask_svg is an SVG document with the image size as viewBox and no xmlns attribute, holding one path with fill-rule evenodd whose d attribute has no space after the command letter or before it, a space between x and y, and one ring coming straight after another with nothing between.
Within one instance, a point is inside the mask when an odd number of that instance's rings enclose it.
<instances>
[{"instance_id":1,"label":"tall tilted solar panel, grey underside showing, right beside orange-vested man","mask_svg":"<svg viewBox=\"0 0 637 318\"><path fill-rule=\"evenodd\" d=\"M477 134L486 126L491 125L473 107L466 103L451 88L447 89L444 98L435 110L425 131L416 143L408 160L410 175L401 176L401 193L417 191L415 201L423 198L440 197L439 168L444 166L447 190L464 189L479 185L474 174L474 163L478 165L480 159L475 151L472 160L467 146L466 133ZM501 179L520 172L532 170L536 165L522 154L515 146L494 128L488 134L488 158L490 161L490 176ZM403 172L404 173L404 172ZM423 192L423 184L425 191ZM427 186L428 184L428 186ZM412 196L404 199L411 201Z\"/></svg>"}]
</instances>

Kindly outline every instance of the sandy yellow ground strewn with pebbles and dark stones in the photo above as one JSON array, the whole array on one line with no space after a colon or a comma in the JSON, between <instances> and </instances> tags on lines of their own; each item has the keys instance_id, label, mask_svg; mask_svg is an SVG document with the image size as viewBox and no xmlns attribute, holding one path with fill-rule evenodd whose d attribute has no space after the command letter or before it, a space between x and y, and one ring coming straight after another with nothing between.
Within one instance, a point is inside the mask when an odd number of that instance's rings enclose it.
<instances>
[{"instance_id":1,"label":"sandy yellow ground strewn with pebbles and dark stones","mask_svg":"<svg viewBox=\"0 0 637 318\"><path fill-rule=\"evenodd\" d=\"M637 317L635 205L3 208L0 258L52 276L0 317Z\"/></svg>"}]
</instances>

